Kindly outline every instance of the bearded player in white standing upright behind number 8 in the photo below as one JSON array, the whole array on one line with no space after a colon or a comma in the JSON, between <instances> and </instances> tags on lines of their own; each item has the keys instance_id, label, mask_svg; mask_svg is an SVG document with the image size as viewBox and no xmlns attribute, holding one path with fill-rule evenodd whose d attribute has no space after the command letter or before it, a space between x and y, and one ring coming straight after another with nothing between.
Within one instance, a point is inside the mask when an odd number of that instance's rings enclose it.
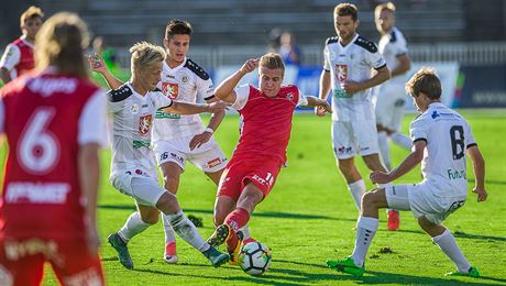
<instances>
[{"instance_id":1,"label":"bearded player in white standing upright behind number 8","mask_svg":"<svg viewBox=\"0 0 506 286\"><path fill-rule=\"evenodd\" d=\"M324 65L319 97L332 91L332 145L341 174L360 210L365 183L354 163L360 154L371 170L386 172L378 156L376 121L371 88L389 78L385 61L374 43L360 36L356 7L341 3L334 8L338 36L324 45ZM371 77L372 69L375 75ZM323 110L317 108L318 116Z\"/></svg>"}]
</instances>

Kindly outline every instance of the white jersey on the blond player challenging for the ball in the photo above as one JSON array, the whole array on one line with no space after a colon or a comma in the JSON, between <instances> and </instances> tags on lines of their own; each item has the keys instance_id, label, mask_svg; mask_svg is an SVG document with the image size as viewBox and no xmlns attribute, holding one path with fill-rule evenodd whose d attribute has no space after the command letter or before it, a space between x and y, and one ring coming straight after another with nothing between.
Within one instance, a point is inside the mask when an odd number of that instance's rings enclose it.
<instances>
[{"instance_id":1,"label":"white jersey on the blond player challenging for the ball","mask_svg":"<svg viewBox=\"0 0 506 286\"><path fill-rule=\"evenodd\" d=\"M108 110L113 117L111 177L139 168L156 178L151 127L156 110L173 101L160 90L141 96L130 82L110 90L108 97Z\"/></svg>"}]
</instances>

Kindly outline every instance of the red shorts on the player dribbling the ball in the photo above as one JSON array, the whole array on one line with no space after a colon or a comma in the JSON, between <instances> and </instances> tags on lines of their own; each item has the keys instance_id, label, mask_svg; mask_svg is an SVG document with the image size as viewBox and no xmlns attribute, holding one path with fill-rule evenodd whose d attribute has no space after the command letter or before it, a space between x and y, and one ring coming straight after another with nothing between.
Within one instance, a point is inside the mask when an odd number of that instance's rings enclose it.
<instances>
[{"instance_id":1,"label":"red shorts on the player dribbling the ball","mask_svg":"<svg viewBox=\"0 0 506 286\"><path fill-rule=\"evenodd\" d=\"M248 183L253 183L264 198L271 193L282 168L279 161L234 161L233 157L221 175L217 196L228 196L235 201Z\"/></svg>"}]
</instances>

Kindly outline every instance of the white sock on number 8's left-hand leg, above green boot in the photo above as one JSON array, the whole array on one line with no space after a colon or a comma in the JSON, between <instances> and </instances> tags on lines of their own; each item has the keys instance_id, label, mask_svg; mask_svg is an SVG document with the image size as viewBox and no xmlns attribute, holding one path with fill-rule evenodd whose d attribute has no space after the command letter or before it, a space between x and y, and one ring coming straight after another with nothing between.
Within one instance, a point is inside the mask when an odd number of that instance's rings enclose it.
<instances>
[{"instance_id":1,"label":"white sock on number 8's left-hand leg, above green boot","mask_svg":"<svg viewBox=\"0 0 506 286\"><path fill-rule=\"evenodd\" d=\"M378 219L369 217L359 217L356 222L356 240L355 249L351 257L355 262L356 266L364 265L365 255L367 255L369 246L373 241L374 234L377 231Z\"/></svg>"}]
</instances>

